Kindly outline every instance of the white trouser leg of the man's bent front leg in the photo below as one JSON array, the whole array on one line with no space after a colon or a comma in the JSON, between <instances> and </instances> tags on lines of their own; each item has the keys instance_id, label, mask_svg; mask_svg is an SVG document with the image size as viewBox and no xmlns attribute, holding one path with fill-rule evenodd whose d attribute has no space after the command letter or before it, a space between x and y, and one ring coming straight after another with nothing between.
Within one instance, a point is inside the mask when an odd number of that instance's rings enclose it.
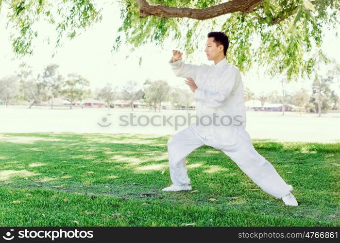
<instances>
[{"instance_id":1,"label":"white trouser leg of the man's bent front leg","mask_svg":"<svg viewBox=\"0 0 340 243\"><path fill-rule=\"evenodd\" d=\"M190 184L187 175L186 157L204 142L189 126L168 140L170 178L174 185Z\"/></svg>"}]
</instances>

